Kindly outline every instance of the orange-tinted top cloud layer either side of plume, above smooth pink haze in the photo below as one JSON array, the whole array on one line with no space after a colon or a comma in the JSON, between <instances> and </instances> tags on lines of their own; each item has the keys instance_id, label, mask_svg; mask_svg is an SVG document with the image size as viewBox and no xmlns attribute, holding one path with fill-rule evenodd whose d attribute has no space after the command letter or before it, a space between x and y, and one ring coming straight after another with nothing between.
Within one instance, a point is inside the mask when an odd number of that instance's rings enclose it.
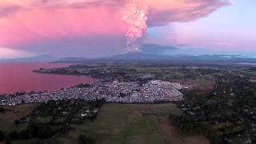
<instances>
[{"instance_id":1,"label":"orange-tinted top cloud layer either side of plume, above smooth pink haze","mask_svg":"<svg viewBox=\"0 0 256 144\"><path fill-rule=\"evenodd\" d=\"M50 8L88 8L106 6L122 10L131 0L2 0L0 15L14 10L38 10ZM146 0L150 6L149 25L162 26L169 22L187 22L229 6L231 0Z\"/></svg>"}]
</instances>

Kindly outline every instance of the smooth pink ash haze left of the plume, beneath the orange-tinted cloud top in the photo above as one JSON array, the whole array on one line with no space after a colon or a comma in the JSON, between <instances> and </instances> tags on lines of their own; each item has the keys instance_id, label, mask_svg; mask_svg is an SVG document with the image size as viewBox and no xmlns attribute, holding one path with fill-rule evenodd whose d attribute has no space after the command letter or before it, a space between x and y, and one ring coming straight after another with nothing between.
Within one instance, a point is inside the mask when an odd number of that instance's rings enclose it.
<instances>
[{"instance_id":1,"label":"smooth pink ash haze left of the plume, beneath the orange-tinted cloud top","mask_svg":"<svg viewBox=\"0 0 256 144\"><path fill-rule=\"evenodd\" d=\"M104 6L86 9L39 9L19 11L0 18L0 46L62 38L125 35L126 25L119 13Z\"/></svg>"}]
</instances>

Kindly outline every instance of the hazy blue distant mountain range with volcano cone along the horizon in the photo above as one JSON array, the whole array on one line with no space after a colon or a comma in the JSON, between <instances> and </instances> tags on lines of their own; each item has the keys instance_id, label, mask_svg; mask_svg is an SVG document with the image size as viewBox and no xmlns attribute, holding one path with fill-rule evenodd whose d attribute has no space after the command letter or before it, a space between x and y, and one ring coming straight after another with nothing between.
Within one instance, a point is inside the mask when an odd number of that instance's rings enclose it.
<instances>
[{"instance_id":1,"label":"hazy blue distant mountain range with volcano cone along the horizon","mask_svg":"<svg viewBox=\"0 0 256 144\"><path fill-rule=\"evenodd\" d=\"M91 62L91 61L170 61L170 62L252 62L256 63L256 58L246 58L241 55L163 55L148 54L144 52L130 52L118 54L104 58L62 58L56 62Z\"/></svg>"}]
</instances>

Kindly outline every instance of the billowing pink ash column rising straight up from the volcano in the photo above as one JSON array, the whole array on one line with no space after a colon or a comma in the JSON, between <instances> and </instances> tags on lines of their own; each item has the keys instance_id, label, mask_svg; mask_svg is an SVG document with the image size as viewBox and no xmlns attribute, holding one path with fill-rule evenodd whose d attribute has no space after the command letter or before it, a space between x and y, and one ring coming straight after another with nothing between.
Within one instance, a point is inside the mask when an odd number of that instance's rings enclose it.
<instances>
[{"instance_id":1,"label":"billowing pink ash column rising straight up from the volcano","mask_svg":"<svg viewBox=\"0 0 256 144\"><path fill-rule=\"evenodd\" d=\"M122 11L122 20L128 25L126 33L127 51L140 51L140 39L146 31L150 6L146 0L132 0Z\"/></svg>"}]
</instances>

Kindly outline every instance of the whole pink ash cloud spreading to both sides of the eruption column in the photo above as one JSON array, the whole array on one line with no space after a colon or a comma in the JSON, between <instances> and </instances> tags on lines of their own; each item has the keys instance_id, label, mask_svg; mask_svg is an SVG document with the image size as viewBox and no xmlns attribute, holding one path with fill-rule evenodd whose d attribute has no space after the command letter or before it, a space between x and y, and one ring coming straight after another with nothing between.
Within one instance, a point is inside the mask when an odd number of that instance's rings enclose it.
<instances>
[{"instance_id":1,"label":"whole pink ash cloud spreading to both sides of the eruption column","mask_svg":"<svg viewBox=\"0 0 256 144\"><path fill-rule=\"evenodd\" d=\"M126 34L122 10L131 0L0 0L0 46ZM148 26L206 17L230 0L146 0ZM54 49L54 48L53 48ZM122 49L122 48L121 48Z\"/></svg>"}]
</instances>

